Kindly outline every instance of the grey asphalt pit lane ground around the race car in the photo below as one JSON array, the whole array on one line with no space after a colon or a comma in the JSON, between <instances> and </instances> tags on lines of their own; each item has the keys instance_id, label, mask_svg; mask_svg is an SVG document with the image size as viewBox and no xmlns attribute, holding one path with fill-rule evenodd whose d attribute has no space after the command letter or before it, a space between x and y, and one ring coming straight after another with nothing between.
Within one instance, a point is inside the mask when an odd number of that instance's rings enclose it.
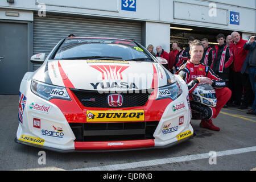
<instances>
[{"instance_id":1,"label":"grey asphalt pit lane ground around the race car","mask_svg":"<svg viewBox=\"0 0 256 182\"><path fill-rule=\"evenodd\" d=\"M170 148L71 154L45 150L42 164L40 148L14 142L18 101L18 95L0 95L0 170L247 171L256 167L256 115L236 107L222 109L213 120L219 132L200 128L200 121L192 120L196 136ZM216 158L211 158L211 151Z\"/></svg>"}]
</instances>

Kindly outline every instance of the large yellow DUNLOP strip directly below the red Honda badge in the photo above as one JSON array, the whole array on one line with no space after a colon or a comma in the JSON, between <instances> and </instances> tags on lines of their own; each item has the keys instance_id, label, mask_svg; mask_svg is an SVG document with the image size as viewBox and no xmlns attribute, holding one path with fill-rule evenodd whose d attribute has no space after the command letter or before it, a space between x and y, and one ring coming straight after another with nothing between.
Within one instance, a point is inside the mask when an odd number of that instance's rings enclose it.
<instances>
[{"instance_id":1,"label":"large yellow DUNLOP strip directly below the red Honda badge","mask_svg":"<svg viewBox=\"0 0 256 182\"><path fill-rule=\"evenodd\" d=\"M87 110L87 122L144 121L144 110Z\"/></svg>"}]
</instances>

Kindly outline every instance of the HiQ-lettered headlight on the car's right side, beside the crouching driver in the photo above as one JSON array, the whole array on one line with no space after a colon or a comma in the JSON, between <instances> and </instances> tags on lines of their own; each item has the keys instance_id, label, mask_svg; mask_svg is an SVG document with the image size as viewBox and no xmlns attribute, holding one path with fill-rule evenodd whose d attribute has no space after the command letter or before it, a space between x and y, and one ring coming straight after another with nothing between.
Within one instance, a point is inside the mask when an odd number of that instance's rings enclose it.
<instances>
[{"instance_id":1,"label":"HiQ-lettered headlight on the car's right side, beside the crouching driver","mask_svg":"<svg viewBox=\"0 0 256 182\"><path fill-rule=\"evenodd\" d=\"M174 101L181 94L182 94L181 87L179 83L176 81L171 85L158 88L158 96L156 97L156 100L160 100L163 98L171 98Z\"/></svg>"}]
</instances>

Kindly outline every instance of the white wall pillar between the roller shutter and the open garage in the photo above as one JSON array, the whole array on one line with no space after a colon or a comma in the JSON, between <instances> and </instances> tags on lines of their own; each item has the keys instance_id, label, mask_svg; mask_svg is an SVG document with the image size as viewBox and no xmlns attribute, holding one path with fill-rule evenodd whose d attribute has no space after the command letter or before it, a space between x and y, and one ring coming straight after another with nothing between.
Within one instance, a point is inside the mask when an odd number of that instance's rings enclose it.
<instances>
[{"instance_id":1,"label":"white wall pillar between the roller shutter and the open garage","mask_svg":"<svg viewBox=\"0 0 256 182\"><path fill-rule=\"evenodd\" d=\"M146 48L148 44L154 46L162 46L164 51L170 52L170 24L146 22Z\"/></svg>"}]
</instances>

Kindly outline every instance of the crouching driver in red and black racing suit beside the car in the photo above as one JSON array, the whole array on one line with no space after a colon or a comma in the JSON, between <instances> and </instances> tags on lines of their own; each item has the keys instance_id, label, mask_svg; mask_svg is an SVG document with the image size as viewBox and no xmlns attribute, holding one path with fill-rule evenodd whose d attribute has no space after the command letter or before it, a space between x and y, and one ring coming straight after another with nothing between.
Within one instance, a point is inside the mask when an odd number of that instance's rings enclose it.
<instances>
[{"instance_id":1,"label":"crouching driver in red and black racing suit beside the car","mask_svg":"<svg viewBox=\"0 0 256 182\"><path fill-rule=\"evenodd\" d=\"M193 113L192 116L195 119L202 119L200 127L220 131L219 127L213 125L212 118L216 118L222 107L228 102L231 97L231 90L225 87L225 80L218 77L208 65L200 63L204 48L199 40L195 40L191 43L189 53L191 59L180 68L177 74L179 74L188 85L191 109L199 113ZM192 101L191 93L197 85L201 84L210 84L215 89L217 98L216 107L210 107Z\"/></svg>"}]
</instances>

